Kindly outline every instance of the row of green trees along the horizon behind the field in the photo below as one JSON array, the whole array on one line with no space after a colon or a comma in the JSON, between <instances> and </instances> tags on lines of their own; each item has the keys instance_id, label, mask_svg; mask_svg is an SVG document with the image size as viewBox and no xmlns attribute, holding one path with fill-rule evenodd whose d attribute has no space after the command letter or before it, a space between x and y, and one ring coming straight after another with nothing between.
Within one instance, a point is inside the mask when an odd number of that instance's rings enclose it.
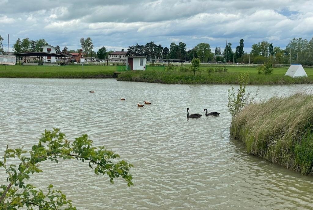
<instances>
[{"instance_id":1,"label":"row of green trees along the horizon behind the field","mask_svg":"<svg viewBox=\"0 0 313 210\"><path fill-rule=\"evenodd\" d=\"M0 36L0 52L3 54L3 37ZM40 52L39 47L47 44L44 39L30 40L29 38L18 38L13 45L15 53L23 52ZM108 51L105 47L98 49L98 52L93 51L93 43L90 37L81 38L80 44L84 49L84 55L88 57L98 57L101 59L108 58L107 55L113 51ZM56 46L56 53L70 54L79 53L80 49L68 50L67 46L61 51L59 45ZM124 51L124 50L122 50ZM274 47L273 43L267 41L258 42L252 45L251 53L244 53L244 40L239 40L239 45L235 51L232 50L232 43L229 42L223 49L216 47L214 52L211 52L209 43L199 43L192 49L187 50L186 43L172 42L168 47L162 47L161 44L156 45L154 42L148 42L145 45L129 46L127 49L129 55L147 56L148 61L151 59L182 59L191 61L192 58L200 58L201 62L239 62L239 63L264 63L271 59L273 63L288 64L302 63L313 64L313 38L308 41L303 38L293 38L290 40L285 49Z\"/></svg>"}]
</instances>

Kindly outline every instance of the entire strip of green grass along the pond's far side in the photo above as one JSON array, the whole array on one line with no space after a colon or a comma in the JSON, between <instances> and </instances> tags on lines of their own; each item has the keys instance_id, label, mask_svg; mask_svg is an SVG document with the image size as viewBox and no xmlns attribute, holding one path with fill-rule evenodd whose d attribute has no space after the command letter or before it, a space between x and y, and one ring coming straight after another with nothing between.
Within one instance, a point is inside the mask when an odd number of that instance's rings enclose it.
<instances>
[{"instance_id":1,"label":"entire strip of green grass along the pond's far side","mask_svg":"<svg viewBox=\"0 0 313 210\"><path fill-rule=\"evenodd\" d=\"M213 70L216 67L212 67ZM116 78L117 80L170 84L238 84L239 72L250 73L249 84L301 84L313 83L313 68L305 68L307 78L285 77L287 68L275 68L271 75L257 74L253 67L226 67L227 72L209 72L202 67L195 75L186 67L164 68L147 66L146 71L123 71L121 66L4 66L0 65L0 78Z\"/></svg>"}]
</instances>

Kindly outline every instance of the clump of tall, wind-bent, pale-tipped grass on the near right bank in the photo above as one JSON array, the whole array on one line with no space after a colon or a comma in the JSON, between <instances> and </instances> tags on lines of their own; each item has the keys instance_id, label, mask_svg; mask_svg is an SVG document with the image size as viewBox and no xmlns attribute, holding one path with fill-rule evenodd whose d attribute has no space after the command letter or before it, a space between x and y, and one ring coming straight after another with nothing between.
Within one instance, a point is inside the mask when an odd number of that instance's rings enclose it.
<instances>
[{"instance_id":1,"label":"clump of tall, wind-bent, pale-tipped grass on the near right bank","mask_svg":"<svg viewBox=\"0 0 313 210\"><path fill-rule=\"evenodd\" d=\"M302 174L313 174L313 96L297 93L246 106L231 134L249 154Z\"/></svg>"}]
</instances>

